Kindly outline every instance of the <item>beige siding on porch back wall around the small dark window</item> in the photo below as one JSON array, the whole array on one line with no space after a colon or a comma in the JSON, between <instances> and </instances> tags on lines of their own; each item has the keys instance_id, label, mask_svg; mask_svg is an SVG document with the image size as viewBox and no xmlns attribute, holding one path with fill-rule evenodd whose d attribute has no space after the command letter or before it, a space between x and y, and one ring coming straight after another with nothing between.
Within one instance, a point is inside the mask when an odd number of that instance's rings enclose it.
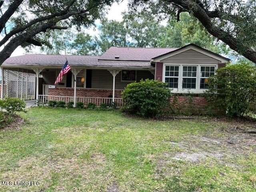
<instances>
[{"instance_id":1,"label":"beige siding on porch back wall around the small dark window","mask_svg":"<svg viewBox=\"0 0 256 192\"><path fill-rule=\"evenodd\" d=\"M150 71L137 71L137 81L141 79L154 79ZM121 81L121 72L116 75L116 89L123 90L130 82ZM113 76L108 70L92 70L92 88L112 89Z\"/></svg>"}]
</instances>

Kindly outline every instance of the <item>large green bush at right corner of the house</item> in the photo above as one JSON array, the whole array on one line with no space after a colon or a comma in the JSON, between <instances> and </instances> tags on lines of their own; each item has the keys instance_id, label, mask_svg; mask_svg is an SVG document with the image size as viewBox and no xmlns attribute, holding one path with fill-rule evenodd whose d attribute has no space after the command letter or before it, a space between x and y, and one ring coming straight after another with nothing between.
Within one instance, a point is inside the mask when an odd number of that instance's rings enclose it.
<instances>
[{"instance_id":1,"label":"large green bush at right corner of the house","mask_svg":"<svg viewBox=\"0 0 256 192\"><path fill-rule=\"evenodd\" d=\"M208 85L208 103L226 108L228 116L244 116L256 104L256 68L249 64L232 64L217 69Z\"/></svg>"}]
</instances>

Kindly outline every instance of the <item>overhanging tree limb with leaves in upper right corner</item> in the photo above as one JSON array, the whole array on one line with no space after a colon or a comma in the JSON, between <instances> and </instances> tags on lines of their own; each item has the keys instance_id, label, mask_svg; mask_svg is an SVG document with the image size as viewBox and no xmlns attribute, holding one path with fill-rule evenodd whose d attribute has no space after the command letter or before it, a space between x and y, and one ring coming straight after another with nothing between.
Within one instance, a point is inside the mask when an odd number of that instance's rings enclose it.
<instances>
[{"instance_id":1,"label":"overhanging tree limb with leaves in upper right corner","mask_svg":"<svg viewBox=\"0 0 256 192\"><path fill-rule=\"evenodd\" d=\"M256 63L255 0L130 0L130 10L180 20L189 12L215 38Z\"/></svg>"}]
</instances>

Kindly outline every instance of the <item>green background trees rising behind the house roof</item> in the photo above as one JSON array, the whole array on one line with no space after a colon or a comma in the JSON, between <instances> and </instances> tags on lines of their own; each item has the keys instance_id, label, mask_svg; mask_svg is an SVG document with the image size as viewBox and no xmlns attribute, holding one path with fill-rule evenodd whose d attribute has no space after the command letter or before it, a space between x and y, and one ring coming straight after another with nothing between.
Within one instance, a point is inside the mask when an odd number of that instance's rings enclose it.
<instances>
[{"instance_id":1,"label":"green background trees rising behind the house roof","mask_svg":"<svg viewBox=\"0 0 256 192\"><path fill-rule=\"evenodd\" d=\"M188 13L180 15L180 22L170 19L167 25L161 25L153 16L146 14L132 15L123 13L123 20L102 19L98 27L98 36L90 36L84 32L78 34L68 30L65 43L56 37L56 46L52 52L63 52L66 46L67 54L98 55L104 53L111 46L136 46L136 47L182 47L189 43L197 44L216 53L224 53L226 45L216 44L216 38L211 36ZM59 32L56 31L58 34ZM62 32L63 33L63 32ZM72 36L69 40L68 37ZM59 45L62 44L62 47ZM48 48L44 48L47 50ZM56 50L54 50L56 49ZM45 52L47 53L47 52Z\"/></svg>"}]
</instances>

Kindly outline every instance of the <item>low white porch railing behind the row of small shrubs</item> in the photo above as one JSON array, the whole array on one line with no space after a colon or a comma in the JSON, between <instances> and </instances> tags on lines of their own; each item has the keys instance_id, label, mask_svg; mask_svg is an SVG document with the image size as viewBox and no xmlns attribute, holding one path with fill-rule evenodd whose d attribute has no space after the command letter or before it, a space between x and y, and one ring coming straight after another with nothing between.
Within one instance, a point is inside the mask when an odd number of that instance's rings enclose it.
<instances>
[{"instance_id":1,"label":"low white porch railing behind the row of small shrubs","mask_svg":"<svg viewBox=\"0 0 256 192\"><path fill-rule=\"evenodd\" d=\"M52 95L38 95L39 103L48 103L50 100L55 101L64 101L66 104L68 102L74 102L74 97L71 96L52 96ZM115 98L114 101L118 107L123 106L122 98ZM83 102L84 105L88 105L88 103L94 103L96 106L99 106L102 103L107 104L108 106L112 105L112 98L102 98L102 97L76 97L76 102Z\"/></svg>"}]
</instances>

